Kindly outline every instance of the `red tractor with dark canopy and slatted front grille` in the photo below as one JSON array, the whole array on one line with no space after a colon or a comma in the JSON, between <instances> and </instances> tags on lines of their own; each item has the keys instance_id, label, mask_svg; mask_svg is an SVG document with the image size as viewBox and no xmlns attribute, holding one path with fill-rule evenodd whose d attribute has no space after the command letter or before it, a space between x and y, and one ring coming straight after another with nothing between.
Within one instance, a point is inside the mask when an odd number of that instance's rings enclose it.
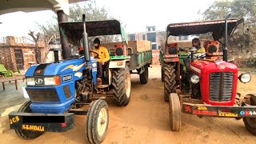
<instances>
[{"instance_id":1,"label":"red tractor with dark canopy and slatted front grille","mask_svg":"<svg viewBox=\"0 0 256 144\"><path fill-rule=\"evenodd\" d=\"M237 92L238 79L243 83L250 82L250 74L238 76L238 67L227 60L226 43L243 19L229 17L230 14L220 20L167 26L166 39L170 35L206 33L212 34L213 38L204 42L206 53L200 56L195 47L190 47L186 53L175 43L166 42L166 49L162 50L162 79L165 101L169 101L171 130L181 129L183 112L199 118L243 119L246 129L256 135L256 94L242 96ZM177 94L176 89L181 93Z\"/></svg>"}]
</instances>

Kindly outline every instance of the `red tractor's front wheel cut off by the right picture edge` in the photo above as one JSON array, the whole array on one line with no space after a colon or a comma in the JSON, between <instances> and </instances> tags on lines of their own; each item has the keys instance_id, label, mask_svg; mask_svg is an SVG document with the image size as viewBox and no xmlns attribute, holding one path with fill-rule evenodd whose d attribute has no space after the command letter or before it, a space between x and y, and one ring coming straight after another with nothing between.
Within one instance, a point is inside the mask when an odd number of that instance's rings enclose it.
<instances>
[{"instance_id":1,"label":"red tractor's front wheel cut off by the right picture edge","mask_svg":"<svg viewBox=\"0 0 256 144\"><path fill-rule=\"evenodd\" d=\"M250 95L251 106L256 106L256 94L248 95ZM242 120L250 134L256 135L256 118L242 118Z\"/></svg>"}]
</instances>

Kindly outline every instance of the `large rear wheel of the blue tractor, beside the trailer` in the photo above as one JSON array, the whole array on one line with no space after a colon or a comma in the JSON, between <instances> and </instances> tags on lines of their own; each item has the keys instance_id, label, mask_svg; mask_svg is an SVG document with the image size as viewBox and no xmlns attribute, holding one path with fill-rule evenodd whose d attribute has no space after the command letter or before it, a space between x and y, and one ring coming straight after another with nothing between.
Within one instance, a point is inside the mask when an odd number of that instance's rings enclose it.
<instances>
[{"instance_id":1,"label":"large rear wheel of the blue tractor, beside the trailer","mask_svg":"<svg viewBox=\"0 0 256 144\"><path fill-rule=\"evenodd\" d=\"M130 70L128 66L124 69L113 70L114 102L119 106L127 106L130 102Z\"/></svg>"}]
</instances>

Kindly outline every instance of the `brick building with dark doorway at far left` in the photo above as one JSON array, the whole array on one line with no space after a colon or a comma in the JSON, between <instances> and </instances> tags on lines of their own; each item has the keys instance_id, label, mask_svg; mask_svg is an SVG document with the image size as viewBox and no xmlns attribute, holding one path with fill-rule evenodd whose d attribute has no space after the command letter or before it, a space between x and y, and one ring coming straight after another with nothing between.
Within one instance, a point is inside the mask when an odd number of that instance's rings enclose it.
<instances>
[{"instance_id":1,"label":"brick building with dark doorway at far left","mask_svg":"<svg viewBox=\"0 0 256 144\"><path fill-rule=\"evenodd\" d=\"M43 58L43 42L39 42L38 49ZM0 41L0 63L7 70L27 70L30 64L36 63L34 53L34 42L28 43L24 38L8 36Z\"/></svg>"}]
</instances>

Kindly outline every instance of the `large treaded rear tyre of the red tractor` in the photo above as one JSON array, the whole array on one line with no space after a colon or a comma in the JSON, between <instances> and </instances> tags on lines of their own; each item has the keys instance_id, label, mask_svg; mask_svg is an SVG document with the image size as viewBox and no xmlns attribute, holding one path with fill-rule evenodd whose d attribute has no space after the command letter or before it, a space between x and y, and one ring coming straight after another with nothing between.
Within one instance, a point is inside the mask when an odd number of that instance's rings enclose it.
<instances>
[{"instance_id":1,"label":"large treaded rear tyre of the red tractor","mask_svg":"<svg viewBox=\"0 0 256 144\"><path fill-rule=\"evenodd\" d=\"M169 94L176 93L176 81L174 65L164 65L164 98L165 102L169 102Z\"/></svg>"}]
</instances>

